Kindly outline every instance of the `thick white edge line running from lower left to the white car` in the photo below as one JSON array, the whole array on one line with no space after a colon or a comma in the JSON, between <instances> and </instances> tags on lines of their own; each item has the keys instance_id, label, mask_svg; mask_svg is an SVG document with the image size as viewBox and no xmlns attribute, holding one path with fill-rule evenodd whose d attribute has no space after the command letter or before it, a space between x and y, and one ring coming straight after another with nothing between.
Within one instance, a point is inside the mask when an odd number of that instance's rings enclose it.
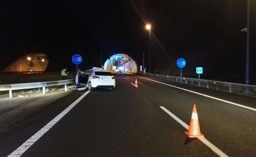
<instances>
[{"instance_id":1,"label":"thick white edge line running from lower left to the white car","mask_svg":"<svg viewBox=\"0 0 256 157\"><path fill-rule=\"evenodd\" d=\"M14 150L8 157L20 157L30 146L32 146L37 140L43 136L51 127L53 127L66 113L68 113L78 102L80 102L90 91L85 92L80 96L75 102L73 102L69 107L67 107L62 113L59 113L52 121L50 121L46 126L41 128L37 133L30 137L26 142L24 142L19 148Z\"/></svg>"}]
</instances>

